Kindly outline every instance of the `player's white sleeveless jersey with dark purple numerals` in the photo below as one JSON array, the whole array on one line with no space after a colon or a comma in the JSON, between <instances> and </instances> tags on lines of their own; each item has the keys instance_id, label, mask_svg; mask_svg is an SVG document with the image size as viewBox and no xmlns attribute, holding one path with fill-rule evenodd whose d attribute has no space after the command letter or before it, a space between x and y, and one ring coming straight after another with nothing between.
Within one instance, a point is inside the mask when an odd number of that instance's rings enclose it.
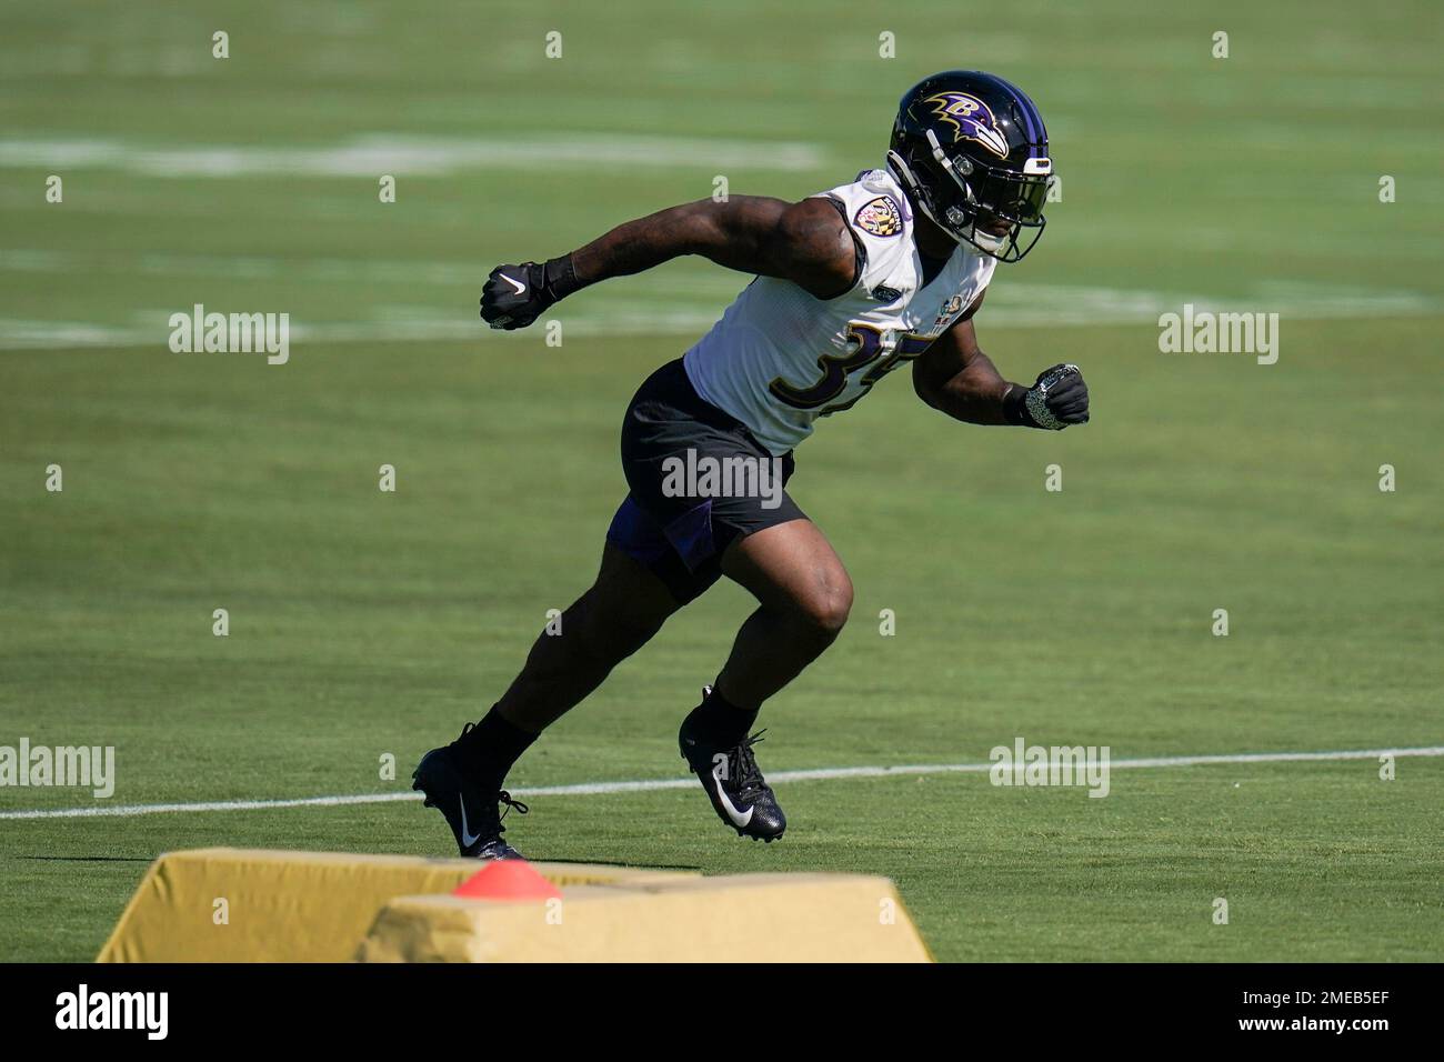
<instances>
[{"instance_id":1,"label":"player's white sleeveless jersey with dark purple numerals","mask_svg":"<svg viewBox=\"0 0 1444 1062\"><path fill-rule=\"evenodd\" d=\"M923 285L911 207L884 169L820 195L842 205L866 254L852 289L817 299L790 280L760 276L683 360L697 394L747 425L774 457L812 435L819 416L851 407L927 350L996 266L959 246Z\"/></svg>"}]
</instances>

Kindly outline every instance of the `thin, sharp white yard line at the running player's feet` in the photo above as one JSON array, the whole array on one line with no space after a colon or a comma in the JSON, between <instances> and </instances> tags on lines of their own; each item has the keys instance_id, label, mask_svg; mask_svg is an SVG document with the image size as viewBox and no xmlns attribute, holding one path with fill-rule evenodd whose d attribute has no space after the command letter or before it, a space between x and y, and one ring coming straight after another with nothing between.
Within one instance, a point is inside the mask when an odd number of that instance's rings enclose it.
<instances>
[{"instance_id":1,"label":"thin, sharp white yard line at the running player's feet","mask_svg":"<svg viewBox=\"0 0 1444 1062\"><path fill-rule=\"evenodd\" d=\"M1109 769L1135 767L1199 767L1214 763L1314 763L1320 760L1376 760L1380 756L1444 756L1444 746L1424 748L1356 748L1324 753L1230 753L1220 756L1154 756L1135 760L1112 760ZM826 782L853 777L892 777L917 774L986 773L992 763L920 763L901 767L820 767L816 770L780 770L768 774L768 782ZM570 786L536 786L514 789L513 796L605 796L609 793L647 793L660 789L690 789L692 777L648 779L637 782L582 782ZM130 803L87 808L43 808L35 811L0 812L0 819L88 819L134 818L211 811L269 811L271 808L339 808L357 803L391 803L419 800L420 793L357 793L351 796L302 796L283 800L201 800L196 803Z\"/></svg>"}]
</instances>

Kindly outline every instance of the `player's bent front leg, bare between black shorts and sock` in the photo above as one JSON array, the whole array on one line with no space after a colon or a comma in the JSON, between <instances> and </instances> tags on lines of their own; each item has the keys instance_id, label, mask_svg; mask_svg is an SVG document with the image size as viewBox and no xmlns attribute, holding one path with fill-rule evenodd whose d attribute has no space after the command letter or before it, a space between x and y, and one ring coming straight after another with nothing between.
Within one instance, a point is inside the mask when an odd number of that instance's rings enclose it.
<instances>
[{"instance_id":1,"label":"player's bent front leg, bare between black shorts and sock","mask_svg":"<svg viewBox=\"0 0 1444 1062\"><path fill-rule=\"evenodd\" d=\"M791 520L738 539L722 571L758 600L736 634L716 691L755 711L836 640L852 608L852 581L812 520Z\"/></svg>"}]
</instances>

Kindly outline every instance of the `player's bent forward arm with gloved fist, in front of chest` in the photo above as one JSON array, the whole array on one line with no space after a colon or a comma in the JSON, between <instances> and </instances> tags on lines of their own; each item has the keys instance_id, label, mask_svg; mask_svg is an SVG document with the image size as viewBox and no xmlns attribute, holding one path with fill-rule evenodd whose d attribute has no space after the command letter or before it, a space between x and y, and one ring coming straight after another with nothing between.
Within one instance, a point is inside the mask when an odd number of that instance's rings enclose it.
<instances>
[{"instance_id":1,"label":"player's bent forward arm with gloved fist, in front of chest","mask_svg":"<svg viewBox=\"0 0 1444 1062\"><path fill-rule=\"evenodd\" d=\"M1087 423L1087 384L1077 366L1053 366L1028 387L1009 383L978 345L967 312L913 361L913 389L933 409L980 425L1024 425L1061 431Z\"/></svg>"}]
</instances>

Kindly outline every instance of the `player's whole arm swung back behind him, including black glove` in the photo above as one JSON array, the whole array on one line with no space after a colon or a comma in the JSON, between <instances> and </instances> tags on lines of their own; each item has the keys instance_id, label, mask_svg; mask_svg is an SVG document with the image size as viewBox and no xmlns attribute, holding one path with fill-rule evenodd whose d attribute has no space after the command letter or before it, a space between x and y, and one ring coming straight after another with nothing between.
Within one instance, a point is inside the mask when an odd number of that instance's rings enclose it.
<instances>
[{"instance_id":1,"label":"player's whole arm swung back behind him, including black glove","mask_svg":"<svg viewBox=\"0 0 1444 1062\"><path fill-rule=\"evenodd\" d=\"M628 221L560 259L497 266L482 289L481 316L492 328L526 328L580 288L683 254L791 280L819 299L835 299L858 280L856 244L832 201L734 195Z\"/></svg>"}]
</instances>

